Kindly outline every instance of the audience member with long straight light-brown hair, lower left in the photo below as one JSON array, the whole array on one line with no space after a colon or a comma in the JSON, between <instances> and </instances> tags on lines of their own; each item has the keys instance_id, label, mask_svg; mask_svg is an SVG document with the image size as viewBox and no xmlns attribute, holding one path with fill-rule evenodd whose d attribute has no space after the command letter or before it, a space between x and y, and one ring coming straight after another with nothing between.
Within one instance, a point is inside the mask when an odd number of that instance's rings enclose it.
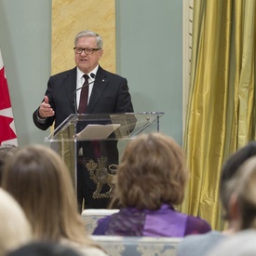
<instances>
[{"instance_id":1,"label":"audience member with long straight light-brown hair, lower left","mask_svg":"<svg viewBox=\"0 0 256 256\"><path fill-rule=\"evenodd\" d=\"M68 169L53 150L41 145L20 149L7 161L2 187L20 203L35 239L71 245L84 255L105 255L86 236Z\"/></svg>"}]
</instances>

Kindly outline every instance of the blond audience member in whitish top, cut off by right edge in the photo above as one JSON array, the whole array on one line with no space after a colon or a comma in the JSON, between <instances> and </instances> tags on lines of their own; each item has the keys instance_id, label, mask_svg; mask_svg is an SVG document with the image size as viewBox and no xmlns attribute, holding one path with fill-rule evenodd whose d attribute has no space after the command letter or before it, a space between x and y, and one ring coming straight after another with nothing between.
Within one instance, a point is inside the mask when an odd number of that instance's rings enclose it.
<instances>
[{"instance_id":1,"label":"blond audience member in whitish top, cut off by right edge","mask_svg":"<svg viewBox=\"0 0 256 256\"><path fill-rule=\"evenodd\" d=\"M209 255L256 255L256 156L250 157L238 169L229 185L236 187L229 209L229 215L236 220L235 230L248 232L237 232L212 249Z\"/></svg>"}]
</instances>

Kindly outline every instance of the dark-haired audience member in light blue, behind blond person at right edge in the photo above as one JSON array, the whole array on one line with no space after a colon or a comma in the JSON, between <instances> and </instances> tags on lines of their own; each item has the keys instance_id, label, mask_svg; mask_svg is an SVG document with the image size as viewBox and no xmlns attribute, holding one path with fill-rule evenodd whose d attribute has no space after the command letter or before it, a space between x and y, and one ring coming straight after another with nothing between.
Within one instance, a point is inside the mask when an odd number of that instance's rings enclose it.
<instances>
[{"instance_id":1,"label":"dark-haired audience member in light blue, behind blond person at right edge","mask_svg":"<svg viewBox=\"0 0 256 256\"><path fill-rule=\"evenodd\" d=\"M256 142L250 141L246 146L230 155L222 167L220 199L222 202L223 220L227 222L227 229L223 232L212 231L204 235L186 236L178 248L178 256L206 255L211 248L216 247L222 242L223 238L236 233L237 221L230 214L232 194L237 189L232 181L236 179L238 169L253 155L256 155Z\"/></svg>"}]
</instances>

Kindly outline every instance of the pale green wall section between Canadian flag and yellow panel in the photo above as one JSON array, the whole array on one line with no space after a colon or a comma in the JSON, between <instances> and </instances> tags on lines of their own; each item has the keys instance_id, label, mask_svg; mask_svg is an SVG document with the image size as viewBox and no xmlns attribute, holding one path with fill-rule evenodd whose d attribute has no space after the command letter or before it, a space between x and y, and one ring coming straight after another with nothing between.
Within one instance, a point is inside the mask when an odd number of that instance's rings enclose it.
<instances>
[{"instance_id":1,"label":"pale green wall section between Canadian flag and yellow panel","mask_svg":"<svg viewBox=\"0 0 256 256\"><path fill-rule=\"evenodd\" d=\"M50 74L50 0L1 0L0 47L7 73L19 146L45 143L32 113Z\"/></svg>"}]
</instances>

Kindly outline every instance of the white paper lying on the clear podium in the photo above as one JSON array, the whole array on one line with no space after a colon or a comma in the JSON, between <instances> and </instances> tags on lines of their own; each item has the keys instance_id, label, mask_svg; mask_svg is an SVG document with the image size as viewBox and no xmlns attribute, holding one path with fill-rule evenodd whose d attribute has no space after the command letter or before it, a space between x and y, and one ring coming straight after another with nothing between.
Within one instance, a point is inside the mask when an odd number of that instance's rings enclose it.
<instances>
[{"instance_id":1,"label":"white paper lying on the clear podium","mask_svg":"<svg viewBox=\"0 0 256 256\"><path fill-rule=\"evenodd\" d=\"M108 125L88 125L82 131L76 134L78 140L93 140L107 139L116 128L119 128L120 124L108 124Z\"/></svg>"}]
</instances>

